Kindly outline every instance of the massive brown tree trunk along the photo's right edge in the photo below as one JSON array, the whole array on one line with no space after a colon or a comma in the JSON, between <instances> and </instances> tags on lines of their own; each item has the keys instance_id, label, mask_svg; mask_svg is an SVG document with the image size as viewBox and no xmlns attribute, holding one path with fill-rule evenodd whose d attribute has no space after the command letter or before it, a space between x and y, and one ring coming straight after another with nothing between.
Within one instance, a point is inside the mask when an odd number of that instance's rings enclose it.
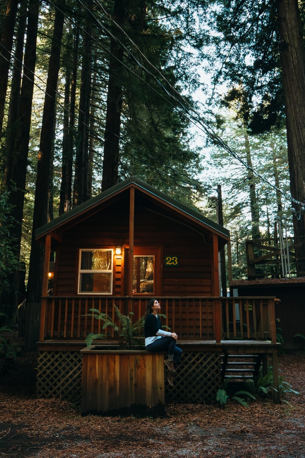
<instances>
[{"instance_id":1,"label":"massive brown tree trunk along the photo's right edge","mask_svg":"<svg viewBox=\"0 0 305 458\"><path fill-rule=\"evenodd\" d=\"M281 65L286 110L290 191L294 199L305 201L305 64L304 41L298 0L278 0ZM292 205L297 213L300 208ZM305 214L294 216L294 243L305 235ZM297 275L305 275L305 243L298 248Z\"/></svg>"}]
</instances>

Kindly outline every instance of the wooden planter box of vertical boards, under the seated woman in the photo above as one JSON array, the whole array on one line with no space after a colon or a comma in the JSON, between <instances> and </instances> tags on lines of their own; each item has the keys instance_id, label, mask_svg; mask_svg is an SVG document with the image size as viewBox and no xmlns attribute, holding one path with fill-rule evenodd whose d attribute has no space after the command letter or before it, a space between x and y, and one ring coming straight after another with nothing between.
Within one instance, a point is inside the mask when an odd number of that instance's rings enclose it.
<instances>
[{"instance_id":1,"label":"wooden planter box of vertical boards, under the seated woman","mask_svg":"<svg viewBox=\"0 0 305 458\"><path fill-rule=\"evenodd\" d=\"M146 350L83 349L82 415L164 415L164 354Z\"/></svg>"}]
</instances>

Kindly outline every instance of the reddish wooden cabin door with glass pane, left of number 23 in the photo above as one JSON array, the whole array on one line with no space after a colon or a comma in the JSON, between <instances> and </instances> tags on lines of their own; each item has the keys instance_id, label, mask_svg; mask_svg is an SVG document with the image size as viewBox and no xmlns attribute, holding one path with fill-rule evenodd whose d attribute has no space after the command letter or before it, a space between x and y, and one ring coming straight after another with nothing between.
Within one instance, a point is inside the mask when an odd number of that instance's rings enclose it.
<instances>
[{"instance_id":1,"label":"reddish wooden cabin door with glass pane, left of number 23","mask_svg":"<svg viewBox=\"0 0 305 458\"><path fill-rule=\"evenodd\" d=\"M128 285L128 256L125 257L124 284ZM161 288L161 248L134 248L133 296L160 296ZM127 291L126 291L127 292ZM128 291L129 292L129 291Z\"/></svg>"}]
</instances>

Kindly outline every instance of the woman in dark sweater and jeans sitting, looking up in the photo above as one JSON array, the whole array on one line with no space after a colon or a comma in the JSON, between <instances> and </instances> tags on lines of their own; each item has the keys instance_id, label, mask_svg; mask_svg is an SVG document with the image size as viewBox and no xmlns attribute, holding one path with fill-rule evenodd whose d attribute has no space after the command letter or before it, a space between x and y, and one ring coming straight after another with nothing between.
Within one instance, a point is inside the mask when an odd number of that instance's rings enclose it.
<instances>
[{"instance_id":1,"label":"woman in dark sweater and jeans sitting, looking up","mask_svg":"<svg viewBox=\"0 0 305 458\"><path fill-rule=\"evenodd\" d=\"M163 331L160 316L158 315L160 308L159 302L155 299L151 299L147 303L144 324L145 349L152 353L166 350L168 356L164 363L168 370L165 375L169 384L173 387L174 374L176 373L175 366L180 360L182 350L176 347L177 334Z\"/></svg>"}]
</instances>

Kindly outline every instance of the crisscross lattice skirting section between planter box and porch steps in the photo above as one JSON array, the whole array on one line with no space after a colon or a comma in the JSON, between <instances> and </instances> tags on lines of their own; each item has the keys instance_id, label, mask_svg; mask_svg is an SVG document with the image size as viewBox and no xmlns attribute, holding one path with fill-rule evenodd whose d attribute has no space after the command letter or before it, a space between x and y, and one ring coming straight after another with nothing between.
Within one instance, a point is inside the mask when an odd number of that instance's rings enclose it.
<instances>
[{"instance_id":1,"label":"crisscross lattice skirting section between planter box and porch steps","mask_svg":"<svg viewBox=\"0 0 305 458\"><path fill-rule=\"evenodd\" d=\"M174 387L166 380L165 398L177 403L211 402L221 386L220 353L184 352L177 367Z\"/></svg>"}]
</instances>

